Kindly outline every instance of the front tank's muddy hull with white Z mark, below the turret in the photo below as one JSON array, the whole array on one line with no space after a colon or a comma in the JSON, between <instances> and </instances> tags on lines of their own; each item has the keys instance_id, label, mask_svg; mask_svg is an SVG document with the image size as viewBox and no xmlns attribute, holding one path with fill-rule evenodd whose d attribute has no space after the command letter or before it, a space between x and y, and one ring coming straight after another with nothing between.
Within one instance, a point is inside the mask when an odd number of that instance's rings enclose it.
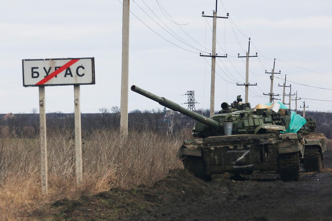
<instances>
[{"instance_id":1,"label":"front tank's muddy hull with white Z mark, below the turret","mask_svg":"<svg viewBox=\"0 0 332 221\"><path fill-rule=\"evenodd\" d=\"M301 136L296 133L269 133L185 140L179 152L184 164L189 156L202 160L206 174L211 175L254 170L280 171L281 156L298 153L300 159L303 148Z\"/></svg>"}]
</instances>

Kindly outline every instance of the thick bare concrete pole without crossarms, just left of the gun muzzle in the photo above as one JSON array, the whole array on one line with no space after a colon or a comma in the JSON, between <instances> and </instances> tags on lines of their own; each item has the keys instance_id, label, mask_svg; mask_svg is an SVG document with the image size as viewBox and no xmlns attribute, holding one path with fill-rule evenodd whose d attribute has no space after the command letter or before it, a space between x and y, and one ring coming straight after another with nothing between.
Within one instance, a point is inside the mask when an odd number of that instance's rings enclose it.
<instances>
[{"instance_id":1,"label":"thick bare concrete pole without crossarms, just left of the gun muzzle","mask_svg":"<svg viewBox=\"0 0 332 221\"><path fill-rule=\"evenodd\" d=\"M120 130L128 135L129 2L123 0Z\"/></svg>"}]
</instances>

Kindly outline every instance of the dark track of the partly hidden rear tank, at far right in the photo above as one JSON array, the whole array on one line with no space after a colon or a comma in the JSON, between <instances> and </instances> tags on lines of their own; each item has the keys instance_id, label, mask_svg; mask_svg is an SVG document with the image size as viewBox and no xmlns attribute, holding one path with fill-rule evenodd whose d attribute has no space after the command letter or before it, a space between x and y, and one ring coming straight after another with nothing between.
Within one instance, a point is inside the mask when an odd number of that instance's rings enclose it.
<instances>
[{"instance_id":1,"label":"dark track of the partly hidden rear tank, at far right","mask_svg":"<svg viewBox=\"0 0 332 221\"><path fill-rule=\"evenodd\" d=\"M303 167L305 172L321 172L323 169L323 155L319 148L307 146L304 148Z\"/></svg>"}]
</instances>

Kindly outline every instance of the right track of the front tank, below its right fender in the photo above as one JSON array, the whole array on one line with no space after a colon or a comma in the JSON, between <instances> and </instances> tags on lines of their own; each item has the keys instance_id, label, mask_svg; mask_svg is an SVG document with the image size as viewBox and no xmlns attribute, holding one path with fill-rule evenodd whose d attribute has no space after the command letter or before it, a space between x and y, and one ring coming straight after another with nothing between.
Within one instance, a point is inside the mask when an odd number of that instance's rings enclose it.
<instances>
[{"instance_id":1,"label":"right track of the front tank, below its right fender","mask_svg":"<svg viewBox=\"0 0 332 221\"><path fill-rule=\"evenodd\" d=\"M280 154L279 170L282 181L298 181L300 179L299 153Z\"/></svg>"}]
</instances>

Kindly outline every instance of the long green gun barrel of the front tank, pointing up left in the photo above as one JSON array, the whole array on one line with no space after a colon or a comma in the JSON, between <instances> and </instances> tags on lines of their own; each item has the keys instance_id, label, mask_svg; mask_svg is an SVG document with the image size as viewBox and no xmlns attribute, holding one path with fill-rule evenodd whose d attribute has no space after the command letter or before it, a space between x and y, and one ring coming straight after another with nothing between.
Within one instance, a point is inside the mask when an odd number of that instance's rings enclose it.
<instances>
[{"instance_id":1,"label":"long green gun barrel of the front tank, pointing up left","mask_svg":"<svg viewBox=\"0 0 332 221\"><path fill-rule=\"evenodd\" d=\"M215 121L215 120L212 120L210 118L207 118L205 116L202 116L201 114L199 113L196 113L194 111L190 111L188 109L185 109L183 107L181 107L180 105L166 99L166 98L163 98L163 97L159 97L157 95L154 95L148 91L145 91L135 85L132 85L131 88L130 88L133 92L136 92L140 95L143 95L144 97L147 97L153 101L156 101L158 102L160 105L166 107L166 108L169 108L173 111L178 111L180 113L183 113L185 114L186 116L189 116L207 126L210 126L210 127L213 127L213 128L219 128L221 125L219 122Z\"/></svg>"}]
</instances>

